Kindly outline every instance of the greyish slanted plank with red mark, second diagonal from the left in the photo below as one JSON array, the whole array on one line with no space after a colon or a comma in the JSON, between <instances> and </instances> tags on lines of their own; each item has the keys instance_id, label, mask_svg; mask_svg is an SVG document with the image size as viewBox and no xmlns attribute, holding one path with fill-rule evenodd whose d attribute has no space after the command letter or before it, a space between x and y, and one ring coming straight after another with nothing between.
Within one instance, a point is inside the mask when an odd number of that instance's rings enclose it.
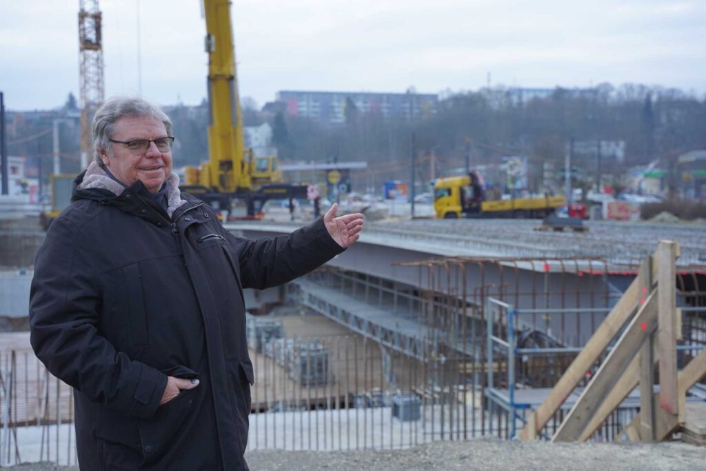
<instances>
[{"instance_id":1,"label":"greyish slanted plank with red mark, second diagonal from the left","mask_svg":"<svg viewBox=\"0 0 706 471\"><path fill-rule=\"evenodd\" d=\"M638 354L645 339L652 335L656 326L657 292L653 291L647 297L645 304L640 306L638 314L630 321L623 335L616 342L614 349L606 357L587 388L571 408L561 427L552 437L552 441L578 440L606 395L610 393L617 379Z\"/></svg>"}]
</instances>

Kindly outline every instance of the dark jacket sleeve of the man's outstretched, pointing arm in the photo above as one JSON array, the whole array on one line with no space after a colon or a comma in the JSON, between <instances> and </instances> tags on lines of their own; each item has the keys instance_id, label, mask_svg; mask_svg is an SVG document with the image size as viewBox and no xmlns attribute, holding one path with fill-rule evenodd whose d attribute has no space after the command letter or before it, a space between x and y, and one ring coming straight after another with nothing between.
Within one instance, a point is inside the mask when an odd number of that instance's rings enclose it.
<instances>
[{"instance_id":1,"label":"dark jacket sleeve of the man's outstretched, pointing arm","mask_svg":"<svg viewBox=\"0 0 706 471\"><path fill-rule=\"evenodd\" d=\"M273 238L249 240L227 234L239 260L242 287L256 290L306 275L345 250L330 236L323 217L292 234Z\"/></svg>"}]
</instances>

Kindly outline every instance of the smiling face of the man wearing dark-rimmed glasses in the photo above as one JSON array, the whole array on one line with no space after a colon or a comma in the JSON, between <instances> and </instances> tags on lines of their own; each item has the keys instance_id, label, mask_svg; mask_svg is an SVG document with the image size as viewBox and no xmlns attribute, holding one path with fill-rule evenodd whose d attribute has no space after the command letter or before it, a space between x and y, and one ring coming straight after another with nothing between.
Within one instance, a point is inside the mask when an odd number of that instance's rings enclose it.
<instances>
[{"instance_id":1,"label":"smiling face of the man wearing dark-rimmed glasses","mask_svg":"<svg viewBox=\"0 0 706 471\"><path fill-rule=\"evenodd\" d=\"M136 141L167 137L164 123L151 116L125 116L116 121L111 139L114 141ZM130 186L142 181L150 193L160 191L164 181L172 173L172 151L160 152L155 143L141 150L130 150L126 145L110 143L112 152L100 151L106 167L124 184Z\"/></svg>"}]
</instances>

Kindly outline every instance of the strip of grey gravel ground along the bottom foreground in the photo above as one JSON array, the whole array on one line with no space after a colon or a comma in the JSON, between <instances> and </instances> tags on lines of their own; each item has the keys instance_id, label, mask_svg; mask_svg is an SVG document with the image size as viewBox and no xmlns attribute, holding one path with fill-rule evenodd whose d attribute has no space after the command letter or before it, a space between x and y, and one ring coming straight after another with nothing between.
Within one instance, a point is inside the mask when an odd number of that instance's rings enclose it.
<instances>
[{"instance_id":1,"label":"strip of grey gravel ground along the bottom foreground","mask_svg":"<svg viewBox=\"0 0 706 471\"><path fill-rule=\"evenodd\" d=\"M246 453L252 471L275 470L704 470L706 448L672 443L549 443L475 439L406 450ZM77 471L50 463L13 471Z\"/></svg>"}]
</instances>

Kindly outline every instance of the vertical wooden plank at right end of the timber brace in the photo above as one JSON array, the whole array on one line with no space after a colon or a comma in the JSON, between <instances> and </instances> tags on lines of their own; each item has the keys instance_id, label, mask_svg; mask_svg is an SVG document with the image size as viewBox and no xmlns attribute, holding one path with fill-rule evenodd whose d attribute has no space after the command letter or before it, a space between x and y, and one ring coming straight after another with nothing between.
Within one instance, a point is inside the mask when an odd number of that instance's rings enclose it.
<instances>
[{"instance_id":1,"label":"vertical wooden plank at right end of the timber brace","mask_svg":"<svg viewBox=\"0 0 706 471\"><path fill-rule=\"evenodd\" d=\"M676 368L676 254L678 244L659 242L657 291L659 292L659 407L678 413Z\"/></svg>"}]
</instances>

